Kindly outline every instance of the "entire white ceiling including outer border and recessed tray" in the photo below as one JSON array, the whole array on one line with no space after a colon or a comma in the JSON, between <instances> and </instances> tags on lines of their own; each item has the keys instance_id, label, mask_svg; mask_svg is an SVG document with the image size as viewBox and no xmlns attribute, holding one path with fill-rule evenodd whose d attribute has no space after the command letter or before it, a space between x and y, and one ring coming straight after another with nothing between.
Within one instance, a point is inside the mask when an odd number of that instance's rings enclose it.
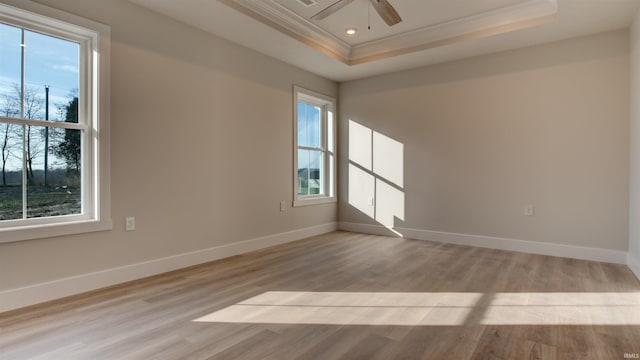
<instances>
[{"instance_id":1,"label":"entire white ceiling including outer border and recessed tray","mask_svg":"<svg viewBox=\"0 0 640 360\"><path fill-rule=\"evenodd\" d=\"M640 0L389 0L403 18L389 27L373 8L369 16L368 0L323 20L309 18L336 0L130 1L335 81L627 28L640 7ZM347 27L358 33L346 35Z\"/></svg>"}]
</instances>

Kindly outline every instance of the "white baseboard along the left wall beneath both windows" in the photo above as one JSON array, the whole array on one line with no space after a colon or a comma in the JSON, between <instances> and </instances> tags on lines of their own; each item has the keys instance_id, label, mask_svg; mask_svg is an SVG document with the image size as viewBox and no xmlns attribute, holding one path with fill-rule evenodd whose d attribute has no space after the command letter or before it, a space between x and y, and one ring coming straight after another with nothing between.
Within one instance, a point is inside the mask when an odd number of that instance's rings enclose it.
<instances>
[{"instance_id":1,"label":"white baseboard along the left wall beneath both windows","mask_svg":"<svg viewBox=\"0 0 640 360\"><path fill-rule=\"evenodd\" d=\"M0 292L0 312L60 299L337 230L327 223Z\"/></svg>"}]
</instances>

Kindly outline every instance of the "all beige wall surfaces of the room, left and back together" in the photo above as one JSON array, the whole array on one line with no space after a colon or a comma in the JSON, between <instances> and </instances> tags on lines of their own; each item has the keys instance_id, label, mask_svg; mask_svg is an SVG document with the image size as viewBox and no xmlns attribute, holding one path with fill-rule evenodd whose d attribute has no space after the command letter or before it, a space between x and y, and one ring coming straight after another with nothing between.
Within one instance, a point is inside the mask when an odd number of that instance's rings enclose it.
<instances>
[{"instance_id":1,"label":"all beige wall surfaces of the room, left and back together","mask_svg":"<svg viewBox=\"0 0 640 360\"><path fill-rule=\"evenodd\" d=\"M335 204L279 211L292 200L292 84L336 96L336 83L124 0L39 2L112 26L114 229L0 244L0 291L337 220ZM611 32L342 84L340 221L630 247L640 259L628 40ZM378 182L378 221L365 183L360 209L350 204L349 120L384 145L371 166L352 164Z\"/></svg>"}]
</instances>

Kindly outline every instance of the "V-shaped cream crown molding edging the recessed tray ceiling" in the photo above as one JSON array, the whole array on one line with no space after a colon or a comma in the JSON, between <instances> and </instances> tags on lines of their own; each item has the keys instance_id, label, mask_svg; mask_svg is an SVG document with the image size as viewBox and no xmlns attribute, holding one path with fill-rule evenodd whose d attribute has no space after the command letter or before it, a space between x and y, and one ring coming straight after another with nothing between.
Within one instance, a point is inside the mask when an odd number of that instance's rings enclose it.
<instances>
[{"instance_id":1,"label":"V-shaped cream crown molding edging the recessed tray ceiling","mask_svg":"<svg viewBox=\"0 0 640 360\"><path fill-rule=\"evenodd\" d=\"M529 0L352 46L275 0L218 1L347 65L536 26L558 12L557 0Z\"/></svg>"}]
</instances>

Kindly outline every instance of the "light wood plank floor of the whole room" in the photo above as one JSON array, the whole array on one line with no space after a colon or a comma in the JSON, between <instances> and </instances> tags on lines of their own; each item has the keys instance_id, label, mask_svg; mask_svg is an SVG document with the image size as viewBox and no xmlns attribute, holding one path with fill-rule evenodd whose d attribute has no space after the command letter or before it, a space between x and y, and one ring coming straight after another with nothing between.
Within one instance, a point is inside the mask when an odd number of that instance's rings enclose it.
<instances>
[{"instance_id":1,"label":"light wood plank floor of the whole room","mask_svg":"<svg viewBox=\"0 0 640 360\"><path fill-rule=\"evenodd\" d=\"M336 232L0 314L0 359L623 359L628 268Z\"/></svg>"}]
</instances>

